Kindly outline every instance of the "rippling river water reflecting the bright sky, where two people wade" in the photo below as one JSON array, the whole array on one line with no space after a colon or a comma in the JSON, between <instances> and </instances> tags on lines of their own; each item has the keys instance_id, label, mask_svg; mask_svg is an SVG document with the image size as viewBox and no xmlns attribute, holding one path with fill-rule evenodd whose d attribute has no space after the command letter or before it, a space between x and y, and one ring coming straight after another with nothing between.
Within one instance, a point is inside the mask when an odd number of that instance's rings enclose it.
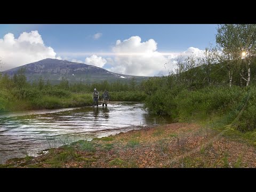
<instances>
[{"instance_id":1,"label":"rippling river water reflecting the bright sky, where two people wade","mask_svg":"<svg viewBox=\"0 0 256 192\"><path fill-rule=\"evenodd\" d=\"M142 103L116 102L108 107L0 114L0 163L79 139L90 140L171 122L170 119L148 115L142 107Z\"/></svg>"}]
</instances>

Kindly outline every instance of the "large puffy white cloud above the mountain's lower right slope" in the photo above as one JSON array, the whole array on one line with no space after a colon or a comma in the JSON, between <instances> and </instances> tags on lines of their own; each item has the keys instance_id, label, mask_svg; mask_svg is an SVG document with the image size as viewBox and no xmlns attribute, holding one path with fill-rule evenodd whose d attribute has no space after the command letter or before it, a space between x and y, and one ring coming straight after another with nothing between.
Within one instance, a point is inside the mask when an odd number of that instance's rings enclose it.
<instances>
[{"instance_id":1,"label":"large puffy white cloud above the mountain's lower right slope","mask_svg":"<svg viewBox=\"0 0 256 192\"><path fill-rule=\"evenodd\" d=\"M167 58L156 50L157 43L154 39L141 42L139 36L132 36L123 42L117 40L113 47L116 56L108 70L121 74L153 76L167 62Z\"/></svg>"}]
</instances>

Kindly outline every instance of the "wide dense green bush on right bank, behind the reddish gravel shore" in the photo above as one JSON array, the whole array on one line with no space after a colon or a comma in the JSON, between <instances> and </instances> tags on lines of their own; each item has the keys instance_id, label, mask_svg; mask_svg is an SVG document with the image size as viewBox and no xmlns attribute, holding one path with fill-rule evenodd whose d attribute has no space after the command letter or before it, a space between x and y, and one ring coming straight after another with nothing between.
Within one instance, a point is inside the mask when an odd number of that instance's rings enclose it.
<instances>
[{"instance_id":1,"label":"wide dense green bush on right bank, behind the reddish gravel shore","mask_svg":"<svg viewBox=\"0 0 256 192\"><path fill-rule=\"evenodd\" d=\"M206 118L213 113L227 113L237 108L247 94L241 87L206 87L189 91L186 89L159 88L145 100L149 113L169 115L188 120Z\"/></svg>"}]
</instances>

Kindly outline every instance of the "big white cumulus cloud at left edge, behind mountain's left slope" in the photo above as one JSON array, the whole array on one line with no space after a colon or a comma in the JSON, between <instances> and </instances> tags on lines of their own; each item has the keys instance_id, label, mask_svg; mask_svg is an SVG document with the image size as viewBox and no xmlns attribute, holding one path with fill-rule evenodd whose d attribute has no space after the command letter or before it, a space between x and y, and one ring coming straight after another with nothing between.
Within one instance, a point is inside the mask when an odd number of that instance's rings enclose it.
<instances>
[{"instance_id":1,"label":"big white cumulus cloud at left edge, behind mountain's left slope","mask_svg":"<svg viewBox=\"0 0 256 192\"><path fill-rule=\"evenodd\" d=\"M1 70L19 67L46 58L61 59L50 46L45 46L37 30L23 32L18 38L12 33L0 39L0 57L4 63Z\"/></svg>"}]
</instances>

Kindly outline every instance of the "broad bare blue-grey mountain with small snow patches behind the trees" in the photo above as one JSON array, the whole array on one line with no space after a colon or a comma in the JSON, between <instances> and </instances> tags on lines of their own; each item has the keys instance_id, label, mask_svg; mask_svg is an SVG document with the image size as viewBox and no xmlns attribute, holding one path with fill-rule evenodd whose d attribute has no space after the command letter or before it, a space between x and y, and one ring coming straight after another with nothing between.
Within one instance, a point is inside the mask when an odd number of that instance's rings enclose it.
<instances>
[{"instance_id":1,"label":"broad bare blue-grey mountain with small snow patches behind the trees","mask_svg":"<svg viewBox=\"0 0 256 192\"><path fill-rule=\"evenodd\" d=\"M59 59L43 59L41 61L3 71L3 73L13 76L21 68L26 69L25 75L29 82L33 82L42 76L45 80L49 79L52 84L58 84L62 77L65 77L70 83L80 81L91 83L104 80L113 82L118 79L126 82L130 81L132 77L135 77L137 82L140 82L142 79L148 78L143 76L117 74L100 67Z\"/></svg>"}]
</instances>

